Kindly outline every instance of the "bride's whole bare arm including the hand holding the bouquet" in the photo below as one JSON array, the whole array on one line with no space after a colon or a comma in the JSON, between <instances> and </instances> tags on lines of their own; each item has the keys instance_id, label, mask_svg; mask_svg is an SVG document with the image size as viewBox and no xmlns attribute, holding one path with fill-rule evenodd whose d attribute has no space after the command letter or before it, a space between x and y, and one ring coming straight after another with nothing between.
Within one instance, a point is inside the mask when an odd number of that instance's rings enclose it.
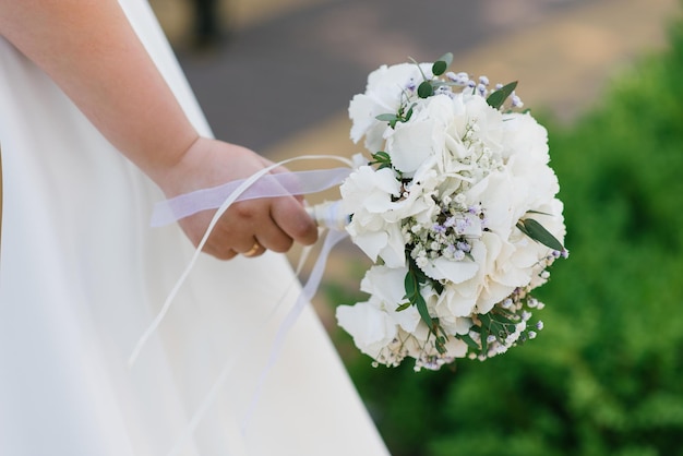
<instances>
[{"instance_id":1,"label":"bride's whole bare arm including the hand holding the bouquet","mask_svg":"<svg viewBox=\"0 0 683 456\"><path fill-rule=\"evenodd\" d=\"M243 178L267 163L243 147L199 137L116 0L0 0L0 34L167 195ZM181 224L194 243L207 217ZM229 259L254 240L285 251L292 239L311 243L315 237L297 200L254 201L231 207L205 250Z\"/></svg>"}]
</instances>

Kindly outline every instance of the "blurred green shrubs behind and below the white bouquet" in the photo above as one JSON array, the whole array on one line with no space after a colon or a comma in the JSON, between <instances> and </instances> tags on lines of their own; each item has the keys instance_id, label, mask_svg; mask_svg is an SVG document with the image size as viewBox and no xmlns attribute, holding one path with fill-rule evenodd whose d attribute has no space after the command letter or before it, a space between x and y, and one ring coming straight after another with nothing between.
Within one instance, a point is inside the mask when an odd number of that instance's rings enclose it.
<instances>
[{"instance_id":1,"label":"blurred green shrubs behind and below the white bouquet","mask_svg":"<svg viewBox=\"0 0 683 456\"><path fill-rule=\"evenodd\" d=\"M683 455L683 23L670 43L571 128L540 119L571 256L536 292L536 340L416 374L339 332L394 456Z\"/></svg>"}]
</instances>

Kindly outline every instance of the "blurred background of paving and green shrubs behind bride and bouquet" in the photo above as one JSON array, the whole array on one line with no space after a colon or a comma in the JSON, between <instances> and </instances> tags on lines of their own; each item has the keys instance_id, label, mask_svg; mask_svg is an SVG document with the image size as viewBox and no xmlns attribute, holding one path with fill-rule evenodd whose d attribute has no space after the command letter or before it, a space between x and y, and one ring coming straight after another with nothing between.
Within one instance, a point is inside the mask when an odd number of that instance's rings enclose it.
<instances>
[{"instance_id":1,"label":"blurred background of paving and green shrubs behind bride and bouquet","mask_svg":"<svg viewBox=\"0 0 683 456\"><path fill-rule=\"evenodd\" d=\"M331 259L315 305L394 456L683 455L680 1L151 3L216 136L274 160L360 152L346 108L368 73L447 51L456 72L518 80L548 128L572 254L537 292L532 343L373 369L333 317L368 263L350 244Z\"/></svg>"}]
</instances>

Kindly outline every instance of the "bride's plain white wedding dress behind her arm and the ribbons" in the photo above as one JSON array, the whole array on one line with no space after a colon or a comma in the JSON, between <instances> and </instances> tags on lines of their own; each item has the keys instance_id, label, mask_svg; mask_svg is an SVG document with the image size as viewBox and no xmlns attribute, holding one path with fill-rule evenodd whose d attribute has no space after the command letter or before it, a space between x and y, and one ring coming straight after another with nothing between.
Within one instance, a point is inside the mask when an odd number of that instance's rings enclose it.
<instances>
[{"instance_id":1,"label":"bride's plain white wedding dress behind her arm and the ribbons","mask_svg":"<svg viewBox=\"0 0 683 456\"><path fill-rule=\"evenodd\" d=\"M148 4L120 3L209 135ZM149 228L160 192L2 37L0 146L0 455L387 454L310 309L267 371L299 290L281 255L202 255L128 367L193 249L177 226Z\"/></svg>"}]
</instances>

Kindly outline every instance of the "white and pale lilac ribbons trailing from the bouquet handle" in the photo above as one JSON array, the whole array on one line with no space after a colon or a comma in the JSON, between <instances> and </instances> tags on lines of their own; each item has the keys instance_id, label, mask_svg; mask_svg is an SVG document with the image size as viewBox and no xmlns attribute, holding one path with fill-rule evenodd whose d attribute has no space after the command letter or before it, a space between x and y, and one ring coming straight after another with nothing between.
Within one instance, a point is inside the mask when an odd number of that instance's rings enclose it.
<instances>
[{"instance_id":1,"label":"white and pale lilac ribbons trailing from the bouquet handle","mask_svg":"<svg viewBox=\"0 0 683 456\"><path fill-rule=\"evenodd\" d=\"M269 175L269 171L272 171L273 169L279 166L287 165L292 161L311 160L311 159L326 159L326 160L333 159L333 160L344 163L348 168L333 168L333 169L327 169L327 170L299 171L299 172L290 172L290 173ZM213 189L206 189L206 190L201 190L197 192L192 192L192 193L181 195L176 199L158 204L155 207L155 212L153 215L153 226L165 225L165 224L175 221L179 218L187 217L189 215L192 215L196 212L204 211L204 209L217 207L217 211L214 214L211 223L208 224L208 227L206 228L206 232L204 233L202 240L197 244L197 248L194 251L194 254L192 255L190 263L188 264L188 266L181 274L178 281L172 287L168 297L166 298L166 301L164 302L161 310L156 315L156 317L152 321L149 326L145 329L145 332L139 339L137 344L133 348L133 351L129 358L129 365L132 367L135 363L135 360L137 359L137 356L140 355L141 350L144 348L146 341L149 339L149 337L154 334L156 328L161 323L164 316L166 315L166 313L168 312L170 308L171 302L178 295L180 287L185 281L190 272L192 271L192 267L196 263L196 260L202 249L204 248L206 240L208 239L208 236L213 231L220 216L228 209L228 207L230 207L231 204L233 204L237 201L244 201L244 200L254 199L254 197L273 197L273 196L284 196L284 195L291 195L291 194L308 194L308 193L314 193L321 190L325 190L325 189L339 184L348 176L348 173L351 170L351 167L352 167L351 160L345 157L328 156L328 155L305 155L305 156L289 158L289 159L279 161L277 164L274 164L272 166L268 166L260 170L259 172L254 173L253 176L249 177L248 179L229 182L228 184L219 185ZM328 209L328 207L329 206L325 206L325 208L312 208L312 211L309 211L309 213L312 216L315 216L316 218L319 218L327 227L340 228L343 224L339 223L338 220L335 221L335 219L338 218L336 217L338 215L336 208ZM342 217L342 219L344 219L344 217ZM253 413L253 410L259 403L261 388L265 382L265 379L267 377L269 371L273 369L273 367L275 365L277 361L279 352L283 348L285 336L296 323L298 316L301 314L301 311L305 307L307 302L309 302L315 295L315 291L317 290L317 287L322 279L323 272L324 272L329 252L332 251L334 245L337 244L346 236L347 233L343 229L331 229L327 232L327 236L325 237L325 241L321 249L320 255L315 262L315 265L313 267L313 271L311 272L311 275L309 276L309 279L307 280L305 285L303 286L301 290L301 293L299 295L299 298L297 299L296 303L292 305L292 308L289 310L289 312L285 316L283 323L278 327L278 331L275 335L267 362L259 376L259 380L256 382L255 389L252 396L252 400L243 418L242 432L247 429L249 421L251 419L251 416ZM299 266L296 272L296 276L293 277L292 284L290 284L290 286L297 281L297 277L299 276L299 273L301 272L301 267L304 264L305 256L308 255L309 252L310 252L310 248L305 248L303 250L302 257L299 261ZM288 287L288 290L289 290L289 287ZM278 309L279 304L284 301L286 295L287 295L287 291L283 293L280 299L278 299L271 314L266 316L266 321L272 319L273 315L275 315L276 310ZM249 344L245 345L245 347L248 346ZM192 416L185 430L180 434L180 436L178 437L178 440L171 447L170 452L168 453L168 456L177 455L178 452L180 452L182 447L187 444L188 439L194 433L194 430L199 425L200 421L202 420L202 418L204 417L204 415L206 413L211 405L215 401L216 395L219 393L220 387L224 385L224 383L228 379L229 372L237 364L239 359L241 359L245 353L247 353L247 350L239 351L236 353L235 357L229 358L226 361L223 370L220 371L218 377L216 379L216 382L212 386L211 391L207 393L206 397L202 401L199 409Z\"/></svg>"}]
</instances>

